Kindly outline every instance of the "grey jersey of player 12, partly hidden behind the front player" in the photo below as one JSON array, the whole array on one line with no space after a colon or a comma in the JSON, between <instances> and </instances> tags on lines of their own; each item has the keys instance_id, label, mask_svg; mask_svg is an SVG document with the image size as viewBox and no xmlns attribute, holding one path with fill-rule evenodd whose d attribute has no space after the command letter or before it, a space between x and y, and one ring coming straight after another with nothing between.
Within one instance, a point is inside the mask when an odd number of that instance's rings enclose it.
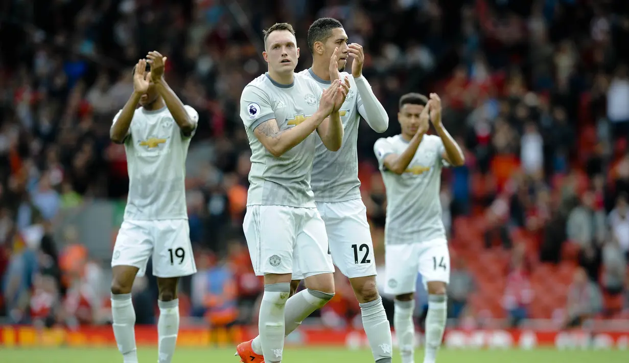
<instances>
[{"instance_id":1,"label":"grey jersey of player 12, partly hidden behind the front player","mask_svg":"<svg viewBox=\"0 0 629 363\"><path fill-rule=\"evenodd\" d=\"M330 87L330 81L318 77L312 69L299 74L315 80L321 89ZM341 79L348 76L350 91L339 113L343 121L343 143L337 152L328 150L319 135L316 135L316 154L313 162L311 184L318 202L341 202L360 198L358 179L358 155L356 143L360 124L359 108L362 105L356 82L351 74L341 73Z\"/></svg>"}]
</instances>

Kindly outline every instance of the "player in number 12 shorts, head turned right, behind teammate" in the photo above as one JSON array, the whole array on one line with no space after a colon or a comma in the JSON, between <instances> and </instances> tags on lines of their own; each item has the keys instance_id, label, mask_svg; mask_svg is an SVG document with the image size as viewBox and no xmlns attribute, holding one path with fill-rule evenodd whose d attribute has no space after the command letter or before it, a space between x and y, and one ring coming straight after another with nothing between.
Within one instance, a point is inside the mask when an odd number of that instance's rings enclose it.
<instances>
[{"instance_id":1,"label":"player in number 12 shorts, head turned right, behind teammate","mask_svg":"<svg viewBox=\"0 0 629 363\"><path fill-rule=\"evenodd\" d=\"M330 64L338 59L339 76L350 79L351 88L340 109L345 129L342 146L338 152L330 152L320 139L317 140L311 186L317 209L325 221L333 262L349 277L360 303L363 326L374 360L390 363L391 327L376 289L374 249L365 205L360 199L356 150L360 116L377 132L386 131L389 116L362 76L365 59L362 47L356 43L348 45L347 34L338 20L316 20L308 30L308 47L313 55L313 66L299 74L326 89L331 84ZM353 58L351 75L343 72L348 57ZM301 272L293 272L291 291L303 278ZM315 311L315 306L308 303L307 297L308 291L304 290L288 299L286 335ZM256 350L259 352L259 337L253 340L252 346L254 352L251 356L255 357Z\"/></svg>"}]
</instances>

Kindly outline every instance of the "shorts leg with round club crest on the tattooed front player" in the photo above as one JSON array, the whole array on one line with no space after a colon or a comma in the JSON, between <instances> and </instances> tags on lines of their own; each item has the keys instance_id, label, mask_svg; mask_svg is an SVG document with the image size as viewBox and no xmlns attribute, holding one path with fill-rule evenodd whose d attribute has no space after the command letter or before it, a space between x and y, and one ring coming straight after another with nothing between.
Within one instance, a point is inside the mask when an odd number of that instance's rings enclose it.
<instances>
[{"instance_id":1,"label":"shorts leg with round club crest on the tattooed front player","mask_svg":"<svg viewBox=\"0 0 629 363\"><path fill-rule=\"evenodd\" d=\"M295 209L287 206L247 206L243 232L257 276L293 272Z\"/></svg>"}]
</instances>

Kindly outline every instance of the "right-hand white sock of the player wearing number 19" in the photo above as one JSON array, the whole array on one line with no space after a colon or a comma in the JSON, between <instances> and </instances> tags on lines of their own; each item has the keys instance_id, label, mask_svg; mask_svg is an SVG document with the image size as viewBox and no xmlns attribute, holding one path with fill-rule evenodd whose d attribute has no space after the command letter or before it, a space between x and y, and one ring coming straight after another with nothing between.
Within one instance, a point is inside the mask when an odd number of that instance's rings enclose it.
<instances>
[{"instance_id":1,"label":"right-hand white sock of the player wearing number 19","mask_svg":"<svg viewBox=\"0 0 629 363\"><path fill-rule=\"evenodd\" d=\"M177 333L179 332L179 299L171 301L158 300L159 320L157 320L158 363L170 363L177 345Z\"/></svg>"}]
</instances>

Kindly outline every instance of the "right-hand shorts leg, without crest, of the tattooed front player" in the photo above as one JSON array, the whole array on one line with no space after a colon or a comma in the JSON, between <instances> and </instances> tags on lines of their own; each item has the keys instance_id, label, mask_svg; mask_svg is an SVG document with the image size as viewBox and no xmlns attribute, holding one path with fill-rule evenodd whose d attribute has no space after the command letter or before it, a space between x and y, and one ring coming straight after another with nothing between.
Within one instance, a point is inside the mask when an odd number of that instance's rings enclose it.
<instances>
[{"instance_id":1,"label":"right-hand shorts leg, without crest, of the tattooed front player","mask_svg":"<svg viewBox=\"0 0 629 363\"><path fill-rule=\"evenodd\" d=\"M296 271L302 274L304 279L334 272L325 223L319 211L316 208L300 208L300 216L301 228L298 230L293 252Z\"/></svg>"}]
</instances>

